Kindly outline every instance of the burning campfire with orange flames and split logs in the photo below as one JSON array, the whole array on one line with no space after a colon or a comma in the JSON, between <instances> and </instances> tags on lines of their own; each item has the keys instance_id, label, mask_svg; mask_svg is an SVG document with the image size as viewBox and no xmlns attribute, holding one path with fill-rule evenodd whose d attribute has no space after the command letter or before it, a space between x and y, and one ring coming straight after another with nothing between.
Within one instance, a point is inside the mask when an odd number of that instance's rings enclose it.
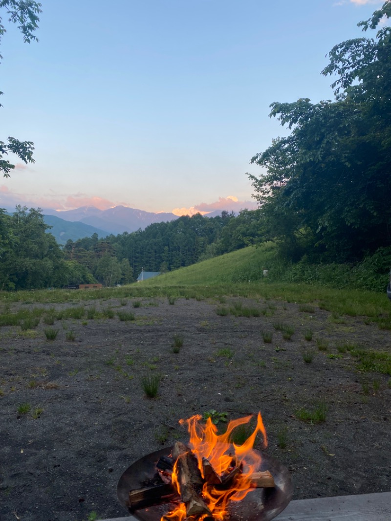
<instances>
[{"instance_id":1,"label":"burning campfire with orange flames and split logs","mask_svg":"<svg viewBox=\"0 0 391 521\"><path fill-rule=\"evenodd\" d=\"M129 510L137 513L139 508L169 502L175 507L161 521L223 521L231 504L243 501L257 488L274 488L273 475L260 470L262 455L253 449L259 433L263 448L267 445L261 414L243 444L230 441L234 429L247 425L251 418L230 421L222 435L211 418L206 424L199 415L180 420L188 427L188 445L176 442L168 455L158 458L152 484L129 491Z\"/></svg>"}]
</instances>

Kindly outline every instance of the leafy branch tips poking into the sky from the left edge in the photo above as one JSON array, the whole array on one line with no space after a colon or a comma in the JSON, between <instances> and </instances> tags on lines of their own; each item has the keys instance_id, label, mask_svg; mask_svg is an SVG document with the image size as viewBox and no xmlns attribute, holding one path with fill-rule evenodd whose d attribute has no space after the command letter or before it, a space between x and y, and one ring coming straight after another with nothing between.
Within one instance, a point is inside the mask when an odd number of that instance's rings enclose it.
<instances>
[{"instance_id":1,"label":"leafy branch tips poking into the sky from the left edge","mask_svg":"<svg viewBox=\"0 0 391 521\"><path fill-rule=\"evenodd\" d=\"M18 29L23 34L23 41L30 43L36 38L34 31L38 29L39 17L42 13L41 4L33 0L0 0L0 9L4 8L7 11L8 21L17 23ZM2 24L0 17L0 40L6 29ZM0 54L0 59L2 59ZM3 94L3 92L0 92ZM0 104L0 107L2 105ZM19 141L13 137L8 137L7 142L0 141L0 172L3 172L3 177L10 177L10 171L15 168L15 165L4 156L9 153L16 155L24 163L35 163L32 158L34 143L31 141Z\"/></svg>"}]
</instances>

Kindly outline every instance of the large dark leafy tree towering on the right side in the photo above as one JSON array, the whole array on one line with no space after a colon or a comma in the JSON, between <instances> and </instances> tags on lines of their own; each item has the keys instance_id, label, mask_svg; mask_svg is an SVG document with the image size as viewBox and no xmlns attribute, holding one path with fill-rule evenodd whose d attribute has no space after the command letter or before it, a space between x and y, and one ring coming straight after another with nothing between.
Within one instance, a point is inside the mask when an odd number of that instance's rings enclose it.
<instances>
[{"instance_id":1,"label":"large dark leafy tree towering on the right side","mask_svg":"<svg viewBox=\"0 0 391 521\"><path fill-rule=\"evenodd\" d=\"M376 28L391 3L359 26ZM357 260L391 239L391 28L376 39L336 45L323 75L336 74L335 100L308 98L271 105L270 116L291 129L252 163L249 176L268 229L288 246L336 261ZM288 240L287 240L288 239Z\"/></svg>"}]
</instances>

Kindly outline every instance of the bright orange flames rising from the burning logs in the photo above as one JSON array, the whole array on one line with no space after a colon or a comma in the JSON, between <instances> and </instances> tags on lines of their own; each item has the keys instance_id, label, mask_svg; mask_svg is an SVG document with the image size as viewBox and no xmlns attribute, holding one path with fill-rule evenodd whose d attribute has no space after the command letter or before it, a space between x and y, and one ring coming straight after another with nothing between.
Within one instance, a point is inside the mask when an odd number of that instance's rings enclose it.
<instances>
[{"instance_id":1,"label":"bright orange flames rising from the burning logs","mask_svg":"<svg viewBox=\"0 0 391 521\"><path fill-rule=\"evenodd\" d=\"M229 501L241 501L251 490L251 475L259 470L261 455L254 451L253 445L258 432L263 437L263 446L267 446L266 430L263 425L262 416L258 413L256 427L249 438L242 444L230 443L233 430L239 425L248 424L252 416L245 416L229 422L227 430L222 435L217 435L217 427L207 418L206 424L201 424L201 416L195 415L187 420L179 420L181 425L187 424L190 433L189 446L196 455L198 467L203 475L202 458L205 457L214 468L217 475L227 475L230 470L241 466L242 472L233 480L231 487L227 490L217 489L204 483L202 499L212 512L213 518L222 521L227 515L227 504ZM173 483L178 493L179 483L177 479L177 465L174 465ZM203 521L201 516L199 521ZM174 511L166 514L165 518L171 521L184 521L186 519L186 506L180 503Z\"/></svg>"}]
</instances>

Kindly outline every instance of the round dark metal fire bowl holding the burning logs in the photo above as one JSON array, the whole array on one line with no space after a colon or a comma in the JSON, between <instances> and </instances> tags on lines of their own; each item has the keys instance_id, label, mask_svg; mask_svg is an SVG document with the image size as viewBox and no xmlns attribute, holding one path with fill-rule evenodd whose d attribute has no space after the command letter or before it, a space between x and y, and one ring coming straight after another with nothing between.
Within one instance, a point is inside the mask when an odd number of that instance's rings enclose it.
<instances>
[{"instance_id":1,"label":"round dark metal fire bowl holding the burning logs","mask_svg":"<svg viewBox=\"0 0 391 521\"><path fill-rule=\"evenodd\" d=\"M132 463L119 478L118 500L124 508L140 521L160 521L167 512L174 509L172 502L161 502L148 508L132 511L129 507L129 491L154 484L156 463L161 456L168 456L172 447L152 452ZM245 499L231 502L228 521L270 521L286 508L292 499L293 486L289 471L271 456L260 453L262 463L258 470L269 470L275 481L275 488L257 488L249 492Z\"/></svg>"}]
</instances>

